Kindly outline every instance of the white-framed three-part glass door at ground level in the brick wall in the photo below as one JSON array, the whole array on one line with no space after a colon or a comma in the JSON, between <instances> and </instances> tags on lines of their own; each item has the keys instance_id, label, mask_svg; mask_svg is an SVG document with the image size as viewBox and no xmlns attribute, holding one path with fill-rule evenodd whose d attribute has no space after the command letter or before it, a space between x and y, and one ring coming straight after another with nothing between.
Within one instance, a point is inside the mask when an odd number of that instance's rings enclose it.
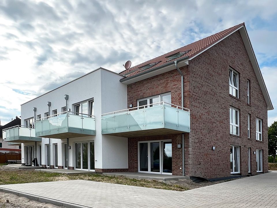
<instances>
[{"instance_id":1,"label":"white-framed three-part glass door at ground level in the brick wall","mask_svg":"<svg viewBox=\"0 0 277 208\"><path fill-rule=\"evenodd\" d=\"M171 141L139 142L139 172L172 174Z\"/></svg>"}]
</instances>

